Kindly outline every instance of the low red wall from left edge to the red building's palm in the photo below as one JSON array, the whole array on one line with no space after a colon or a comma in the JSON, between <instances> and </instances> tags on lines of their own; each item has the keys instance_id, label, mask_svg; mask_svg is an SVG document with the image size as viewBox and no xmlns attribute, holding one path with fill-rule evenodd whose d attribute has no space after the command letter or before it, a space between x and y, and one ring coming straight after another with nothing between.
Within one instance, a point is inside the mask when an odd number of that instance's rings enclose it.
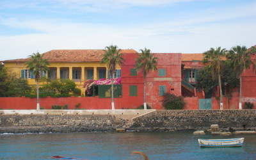
<instances>
[{"instance_id":1,"label":"low red wall from left edge to the red building's palm","mask_svg":"<svg viewBox=\"0 0 256 160\"><path fill-rule=\"evenodd\" d=\"M141 99L141 97L138 97ZM138 99L115 99L115 109L138 108L142 102ZM68 109L74 109L76 104L81 103L79 108L84 109L111 109L111 99L100 99L99 97L63 97L63 98L40 98L40 106L51 109L51 106L68 104ZM1 97L1 109L36 109L36 98L27 97Z\"/></svg>"}]
</instances>

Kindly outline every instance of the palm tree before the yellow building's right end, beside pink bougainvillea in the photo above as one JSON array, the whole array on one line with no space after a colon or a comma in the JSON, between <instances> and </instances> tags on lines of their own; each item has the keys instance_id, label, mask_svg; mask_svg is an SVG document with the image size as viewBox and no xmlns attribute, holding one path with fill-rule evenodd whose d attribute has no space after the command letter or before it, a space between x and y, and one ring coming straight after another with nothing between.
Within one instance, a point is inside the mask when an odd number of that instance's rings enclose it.
<instances>
[{"instance_id":1,"label":"palm tree before the yellow building's right end, beside pink bougainvillea","mask_svg":"<svg viewBox=\"0 0 256 160\"><path fill-rule=\"evenodd\" d=\"M108 70L111 77L111 106L112 109L115 109L113 77L116 72L116 65L122 65L124 58L122 58L123 54L120 53L121 49L118 49L116 45L109 45L109 47L105 47L105 50L103 51L105 53L102 55L103 58L100 63L108 64Z\"/></svg>"}]
</instances>

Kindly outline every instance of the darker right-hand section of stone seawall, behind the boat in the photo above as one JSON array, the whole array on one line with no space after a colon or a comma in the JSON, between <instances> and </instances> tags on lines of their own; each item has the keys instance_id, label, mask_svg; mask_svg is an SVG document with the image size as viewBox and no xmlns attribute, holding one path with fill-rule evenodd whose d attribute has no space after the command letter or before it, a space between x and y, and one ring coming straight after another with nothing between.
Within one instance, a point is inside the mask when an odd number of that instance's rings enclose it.
<instances>
[{"instance_id":1,"label":"darker right-hand section of stone seawall, behind the boat","mask_svg":"<svg viewBox=\"0 0 256 160\"><path fill-rule=\"evenodd\" d=\"M256 110L157 110L133 119L135 131L207 130L218 124L223 130L255 130Z\"/></svg>"}]
</instances>

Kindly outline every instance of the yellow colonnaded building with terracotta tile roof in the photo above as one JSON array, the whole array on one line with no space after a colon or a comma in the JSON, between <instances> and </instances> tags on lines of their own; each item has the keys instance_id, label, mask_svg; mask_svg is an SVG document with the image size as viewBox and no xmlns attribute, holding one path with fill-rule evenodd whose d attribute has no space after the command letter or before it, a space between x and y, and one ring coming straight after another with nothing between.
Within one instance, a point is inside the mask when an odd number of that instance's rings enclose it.
<instances>
[{"instance_id":1,"label":"yellow colonnaded building with terracotta tile roof","mask_svg":"<svg viewBox=\"0 0 256 160\"><path fill-rule=\"evenodd\" d=\"M133 49L124 49L120 53L135 53ZM88 79L108 78L108 67L100 63L104 51L101 49L81 49L81 50L52 50L44 53L44 59L50 63L50 68L46 73L42 73L50 79L71 79L77 88L84 94L82 81ZM28 79L29 84L36 84L35 77L24 65L29 58L2 61L4 67L9 72L17 74L18 77ZM115 77L121 76L120 66L116 67Z\"/></svg>"}]
</instances>

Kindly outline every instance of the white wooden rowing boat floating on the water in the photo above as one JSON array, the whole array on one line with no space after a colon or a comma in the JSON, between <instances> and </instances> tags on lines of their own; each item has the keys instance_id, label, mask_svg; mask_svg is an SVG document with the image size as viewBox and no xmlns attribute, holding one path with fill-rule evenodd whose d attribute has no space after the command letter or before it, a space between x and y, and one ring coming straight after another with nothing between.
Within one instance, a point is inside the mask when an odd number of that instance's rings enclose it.
<instances>
[{"instance_id":1,"label":"white wooden rowing boat floating on the water","mask_svg":"<svg viewBox=\"0 0 256 160\"><path fill-rule=\"evenodd\" d=\"M205 140L198 139L200 147L241 147L244 138L220 139L220 140Z\"/></svg>"}]
</instances>

